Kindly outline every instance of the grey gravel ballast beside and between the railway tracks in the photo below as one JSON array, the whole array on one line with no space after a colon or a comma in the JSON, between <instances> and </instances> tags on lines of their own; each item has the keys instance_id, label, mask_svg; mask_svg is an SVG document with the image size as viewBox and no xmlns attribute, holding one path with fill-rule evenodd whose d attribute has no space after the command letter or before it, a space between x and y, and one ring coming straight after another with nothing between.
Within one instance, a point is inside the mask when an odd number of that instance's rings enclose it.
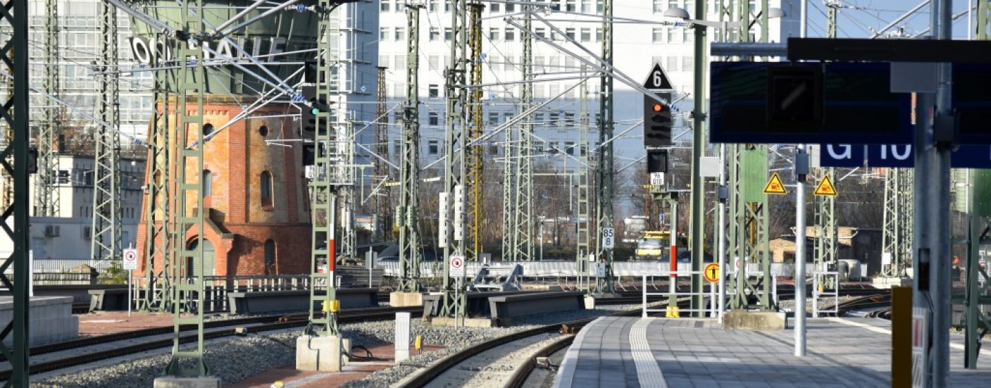
<instances>
[{"instance_id":1,"label":"grey gravel ballast beside and between the railway tracks","mask_svg":"<svg viewBox=\"0 0 991 388\"><path fill-rule=\"evenodd\" d=\"M639 305L601 306L596 310L582 310L530 316L513 322L510 328L455 328L428 327L420 320L413 320L410 338L422 335L425 343L448 346L438 351L415 355L400 364L373 373L365 379L346 386L387 386L408 376L415 370L483 340L495 339L510 333L532 329L536 326L573 321L612 314L617 310L629 310ZM394 338L391 321L342 325L345 338L352 343L391 343ZM269 332L245 338L214 339L206 342L205 358L211 372L224 384L241 381L263 370L291 366L295 363L295 338L299 330ZM89 365L88 369L75 368L35 376L35 387L140 387L151 386L162 374L170 358L169 350L162 349ZM60 375L58 375L60 374Z\"/></svg>"}]
</instances>

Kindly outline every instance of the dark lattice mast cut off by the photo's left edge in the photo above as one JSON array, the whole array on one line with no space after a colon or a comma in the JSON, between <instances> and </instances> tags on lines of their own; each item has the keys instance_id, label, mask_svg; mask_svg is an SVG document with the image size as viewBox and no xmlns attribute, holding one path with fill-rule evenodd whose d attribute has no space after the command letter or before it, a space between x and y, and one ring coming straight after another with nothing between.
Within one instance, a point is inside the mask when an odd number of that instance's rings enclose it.
<instances>
[{"instance_id":1,"label":"dark lattice mast cut off by the photo's left edge","mask_svg":"<svg viewBox=\"0 0 991 388\"><path fill-rule=\"evenodd\" d=\"M28 309L31 301L29 283L31 266L29 262L29 183L28 146L31 127L28 119L30 98L28 90L31 78L28 73L28 2L10 0L4 4L0 23L9 26L10 33L4 34L0 45L0 72L6 79L7 93L0 104L0 117L5 126L3 163L0 169L5 178L5 196L0 223L12 228L4 228L3 233L13 242L14 251L3 257L0 282L6 285L13 296L12 319L0 330L0 353L6 354L11 364L11 375L6 386L24 387L29 385L31 354L28 332L30 322ZM6 30L6 29L5 29ZM12 159L11 159L11 156ZM13 163L11 163L13 161ZM6 343L10 343L7 345Z\"/></svg>"}]
</instances>

